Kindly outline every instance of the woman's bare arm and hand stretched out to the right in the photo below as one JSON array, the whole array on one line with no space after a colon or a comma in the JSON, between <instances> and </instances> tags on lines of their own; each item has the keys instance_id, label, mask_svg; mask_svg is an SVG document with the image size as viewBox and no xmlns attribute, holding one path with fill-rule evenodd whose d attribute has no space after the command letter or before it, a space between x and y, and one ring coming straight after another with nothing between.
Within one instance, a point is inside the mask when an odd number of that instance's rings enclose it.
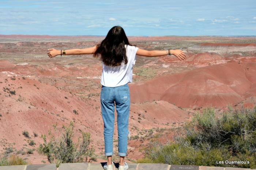
<instances>
[{"instance_id":1,"label":"woman's bare arm and hand stretched out to the right","mask_svg":"<svg viewBox=\"0 0 256 170\"><path fill-rule=\"evenodd\" d=\"M188 58L188 56L181 50L171 50L171 52L181 61ZM147 51L139 48L136 52L136 55L146 56L146 57L157 57L157 56L167 55L167 52L166 50Z\"/></svg>"}]
</instances>

